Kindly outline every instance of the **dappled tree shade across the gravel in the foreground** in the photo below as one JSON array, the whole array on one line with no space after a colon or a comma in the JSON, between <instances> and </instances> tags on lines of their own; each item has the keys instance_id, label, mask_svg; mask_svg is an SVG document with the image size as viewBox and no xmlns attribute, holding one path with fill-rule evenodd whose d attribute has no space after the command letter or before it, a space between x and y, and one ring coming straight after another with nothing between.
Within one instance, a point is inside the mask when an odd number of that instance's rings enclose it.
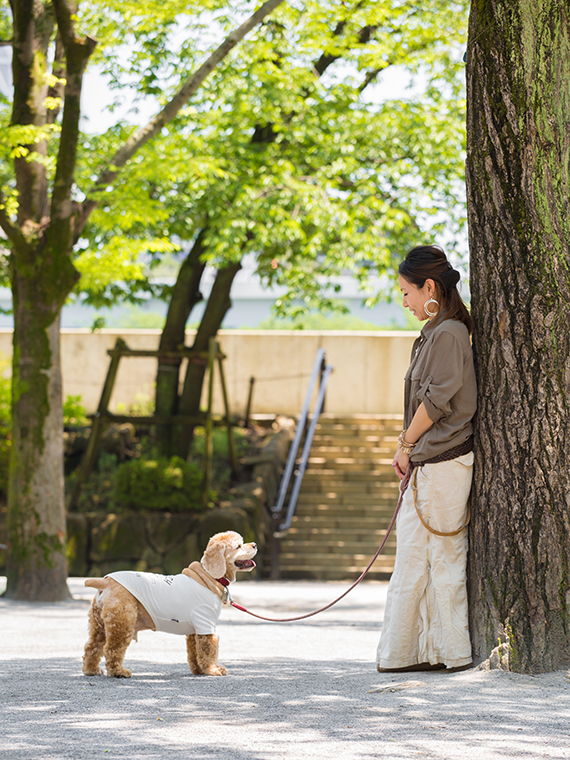
<instances>
[{"instance_id":1,"label":"dappled tree shade across the gravel in the foreground","mask_svg":"<svg viewBox=\"0 0 570 760\"><path fill-rule=\"evenodd\" d=\"M126 664L131 679L88 678L70 659L4 661L5 757L570 756L563 683L549 694L514 674L379 675L366 663L285 658L228 663L226 678L192 676L184 662Z\"/></svg>"}]
</instances>

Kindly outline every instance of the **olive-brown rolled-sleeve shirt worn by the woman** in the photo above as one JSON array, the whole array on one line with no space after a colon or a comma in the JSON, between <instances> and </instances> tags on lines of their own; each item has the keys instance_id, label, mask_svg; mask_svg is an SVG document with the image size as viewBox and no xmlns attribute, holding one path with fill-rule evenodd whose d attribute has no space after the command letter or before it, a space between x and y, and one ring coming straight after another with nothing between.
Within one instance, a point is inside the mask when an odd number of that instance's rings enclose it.
<instances>
[{"instance_id":1,"label":"olive-brown rolled-sleeve shirt worn by the woman","mask_svg":"<svg viewBox=\"0 0 570 760\"><path fill-rule=\"evenodd\" d=\"M467 327L456 319L428 322L415 341L404 379L404 428L423 402L432 427L410 454L431 459L473 435L477 385Z\"/></svg>"}]
</instances>

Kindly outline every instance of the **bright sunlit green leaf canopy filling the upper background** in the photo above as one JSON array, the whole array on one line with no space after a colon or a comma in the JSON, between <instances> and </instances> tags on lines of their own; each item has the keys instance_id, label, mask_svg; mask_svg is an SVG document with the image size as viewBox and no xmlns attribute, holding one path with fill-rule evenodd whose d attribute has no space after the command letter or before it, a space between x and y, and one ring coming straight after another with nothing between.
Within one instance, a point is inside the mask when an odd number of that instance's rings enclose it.
<instances>
[{"instance_id":1,"label":"bright sunlit green leaf canopy filling the upper background","mask_svg":"<svg viewBox=\"0 0 570 760\"><path fill-rule=\"evenodd\" d=\"M121 32L125 56L106 5L81 11L103 41L101 70L119 98L133 81L140 97L164 101L176 67L190 70L211 40L204 15L175 21L167 3L157 34L137 9ZM215 23L235 20L222 7ZM281 6L105 194L77 252L88 301L168 298L149 277L204 229L213 266L254 253L262 280L287 289L276 312L293 317L335 308L324 283L339 271L364 284L419 240L445 233L453 247L465 226L465 30L465 2ZM421 80L421 94L384 100L378 83L393 68ZM84 136L79 187L131 132L123 122Z\"/></svg>"}]
</instances>

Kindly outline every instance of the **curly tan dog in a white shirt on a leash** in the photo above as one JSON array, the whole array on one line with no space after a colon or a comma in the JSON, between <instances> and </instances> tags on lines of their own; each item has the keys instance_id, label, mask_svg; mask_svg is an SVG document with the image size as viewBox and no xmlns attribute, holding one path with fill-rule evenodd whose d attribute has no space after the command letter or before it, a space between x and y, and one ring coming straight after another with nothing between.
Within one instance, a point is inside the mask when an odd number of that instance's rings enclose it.
<instances>
[{"instance_id":1,"label":"curly tan dog in a white shirt on a leash","mask_svg":"<svg viewBox=\"0 0 570 760\"><path fill-rule=\"evenodd\" d=\"M218 665L216 623L229 583L238 570L255 567L254 543L244 544L239 533L216 533L202 560L192 562L178 575L123 571L104 578L88 578L85 585L97 594L89 609L89 639L85 644L83 673L102 675L105 657L108 676L130 678L123 660L139 631L166 631L186 636L188 665L193 675L225 676Z\"/></svg>"}]
</instances>

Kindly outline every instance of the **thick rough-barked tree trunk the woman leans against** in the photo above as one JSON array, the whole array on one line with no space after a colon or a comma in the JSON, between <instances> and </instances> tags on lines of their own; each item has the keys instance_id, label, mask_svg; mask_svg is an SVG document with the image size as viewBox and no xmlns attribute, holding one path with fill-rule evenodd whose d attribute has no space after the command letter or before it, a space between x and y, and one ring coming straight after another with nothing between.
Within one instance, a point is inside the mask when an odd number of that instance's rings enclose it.
<instances>
[{"instance_id":1,"label":"thick rough-barked tree trunk the woman leans against","mask_svg":"<svg viewBox=\"0 0 570 760\"><path fill-rule=\"evenodd\" d=\"M467 180L479 383L474 656L570 664L570 7L474 0Z\"/></svg>"}]
</instances>

